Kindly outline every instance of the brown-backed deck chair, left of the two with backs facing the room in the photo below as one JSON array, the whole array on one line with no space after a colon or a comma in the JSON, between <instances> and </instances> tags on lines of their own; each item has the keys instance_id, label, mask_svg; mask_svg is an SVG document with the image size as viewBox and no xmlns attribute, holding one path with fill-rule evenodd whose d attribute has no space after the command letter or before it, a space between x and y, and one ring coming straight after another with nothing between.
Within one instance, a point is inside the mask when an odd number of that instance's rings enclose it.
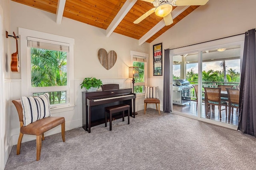
<instances>
[{"instance_id":1,"label":"brown-backed deck chair, left of the two with backs facing the room","mask_svg":"<svg viewBox=\"0 0 256 170\"><path fill-rule=\"evenodd\" d=\"M227 102L221 100L221 88L206 88L204 87L205 92L205 105L206 106L218 106L219 107L219 113L220 113L220 119L221 119L221 111L224 109L221 109L221 106L225 106L226 109L226 117L227 117ZM210 107L206 107L206 111L208 113Z\"/></svg>"}]
</instances>

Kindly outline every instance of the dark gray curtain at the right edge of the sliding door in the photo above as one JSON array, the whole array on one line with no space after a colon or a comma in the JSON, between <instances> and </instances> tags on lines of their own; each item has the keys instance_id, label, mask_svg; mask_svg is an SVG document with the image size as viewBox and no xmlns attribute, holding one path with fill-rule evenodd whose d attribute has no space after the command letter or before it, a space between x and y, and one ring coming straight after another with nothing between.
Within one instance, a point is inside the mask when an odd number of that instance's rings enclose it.
<instances>
[{"instance_id":1,"label":"dark gray curtain at the right edge of the sliding door","mask_svg":"<svg viewBox=\"0 0 256 170\"><path fill-rule=\"evenodd\" d=\"M248 30L244 39L238 130L256 137L256 43L255 29Z\"/></svg>"}]
</instances>

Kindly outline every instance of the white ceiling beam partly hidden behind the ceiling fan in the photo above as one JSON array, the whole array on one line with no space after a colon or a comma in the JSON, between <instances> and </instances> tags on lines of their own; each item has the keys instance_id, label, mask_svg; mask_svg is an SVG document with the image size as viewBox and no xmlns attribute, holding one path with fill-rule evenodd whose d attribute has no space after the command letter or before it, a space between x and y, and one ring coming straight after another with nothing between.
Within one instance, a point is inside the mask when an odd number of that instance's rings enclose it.
<instances>
[{"instance_id":1,"label":"white ceiling beam partly hidden behind the ceiling fan","mask_svg":"<svg viewBox=\"0 0 256 170\"><path fill-rule=\"evenodd\" d=\"M185 11L189 6L177 6L172 12L172 20L180 15L183 11ZM143 35L139 39L139 45L142 45L146 42L150 37L152 37L155 33L157 33L160 29L165 26L164 19L158 22L152 29L150 29L145 35Z\"/></svg>"}]
</instances>

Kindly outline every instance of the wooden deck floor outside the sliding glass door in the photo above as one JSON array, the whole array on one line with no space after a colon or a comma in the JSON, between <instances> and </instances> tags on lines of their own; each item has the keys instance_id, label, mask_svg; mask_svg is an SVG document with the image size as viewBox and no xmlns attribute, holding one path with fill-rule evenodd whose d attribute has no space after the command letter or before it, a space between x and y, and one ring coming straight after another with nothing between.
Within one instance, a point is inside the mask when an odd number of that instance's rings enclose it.
<instances>
[{"instance_id":1,"label":"wooden deck floor outside the sliding glass door","mask_svg":"<svg viewBox=\"0 0 256 170\"><path fill-rule=\"evenodd\" d=\"M224 106L222 106L222 109ZM198 111L196 110L196 101L191 101L191 104L185 104L184 106L173 104L173 109L174 111L179 111L185 114L193 115L193 116L198 116ZM233 115L231 114L230 116L230 121L228 121L228 117L226 117L226 111L222 110L221 111L221 117L219 115L218 107L215 107L214 111L211 111L211 114L205 115L205 109L204 109L204 104L202 106L202 118L206 119L212 119L215 121L220 121L232 125L238 125L238 113L236 113L236 109L234 109Z\"/></svg>"}]
</instances>

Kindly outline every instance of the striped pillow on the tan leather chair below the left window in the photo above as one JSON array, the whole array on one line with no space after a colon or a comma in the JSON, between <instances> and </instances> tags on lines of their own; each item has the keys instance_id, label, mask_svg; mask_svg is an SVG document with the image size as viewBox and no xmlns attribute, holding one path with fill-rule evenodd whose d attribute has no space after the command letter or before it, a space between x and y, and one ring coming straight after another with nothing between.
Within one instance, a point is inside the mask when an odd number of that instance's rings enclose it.
<instances>
[{"instance_id":1,"label":"striped pillow on the tan leather chair below the left window","mask_svg":"<svg viewBox=\"0 0 256 170\"><path fill-rule=\"evenodd\" d=\"M37 97L22 96L20 100L23 109L24 126L52 115L48 93Z\"/></svg>"}]
</instances>

